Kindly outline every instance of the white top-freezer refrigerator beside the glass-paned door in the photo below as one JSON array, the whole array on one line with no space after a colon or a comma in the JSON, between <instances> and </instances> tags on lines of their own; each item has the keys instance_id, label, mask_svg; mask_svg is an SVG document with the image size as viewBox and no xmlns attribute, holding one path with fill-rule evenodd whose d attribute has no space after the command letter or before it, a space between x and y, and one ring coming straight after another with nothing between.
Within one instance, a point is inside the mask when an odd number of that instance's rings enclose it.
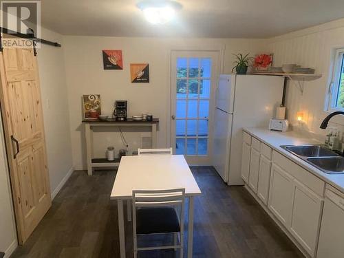
<instances>
[{"instance_id":1,"label":"white top-freezer refrigerator beside the glass-paned door","mask_svg":"<svg viewBox=\"0 0 344 258\"><path fill-rule=\"evenodd\" d=\"M219 76L215 94L213 166L228 185L241 179L242 129L268 127L281 104L284 80L280 76Z\"/></svg>"}]
</instances>

